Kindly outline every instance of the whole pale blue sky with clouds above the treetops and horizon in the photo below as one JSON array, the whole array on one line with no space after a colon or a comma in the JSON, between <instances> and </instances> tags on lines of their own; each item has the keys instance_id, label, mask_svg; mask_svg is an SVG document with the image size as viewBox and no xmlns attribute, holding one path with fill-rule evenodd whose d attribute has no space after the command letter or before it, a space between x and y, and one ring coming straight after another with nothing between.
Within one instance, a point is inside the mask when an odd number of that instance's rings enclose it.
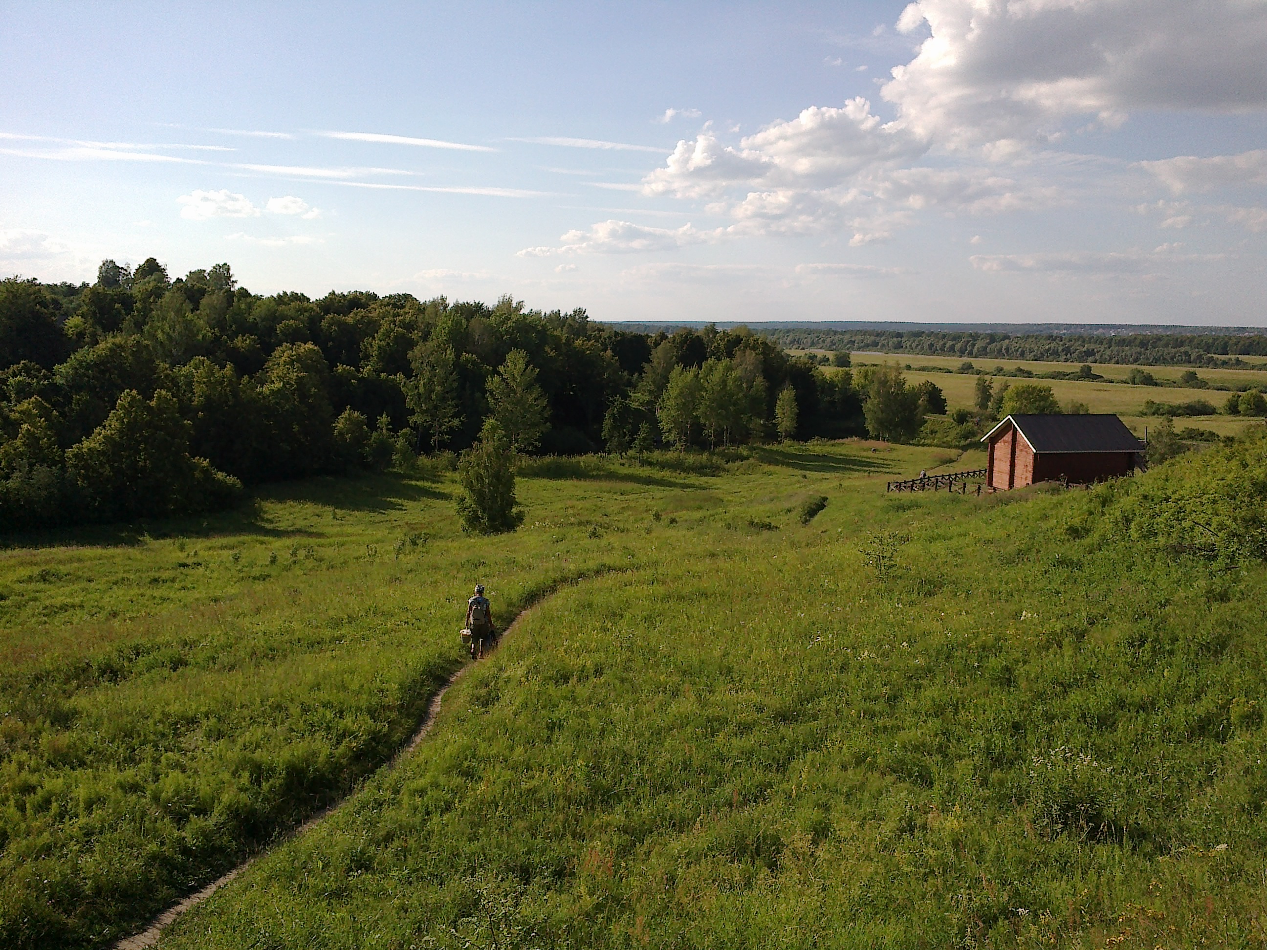
<instances>
[{"instance_id":1,"label":"whole pale blue sky with clouds above the treetops and horizon","mask_svg":"<svg viewBox=\"0 0 1267 950\"><path fill-rule=\"evenodd\" d=\"M1267 0L0 0L0 276L1267 326Z\"/></svg>"}]
</instances>

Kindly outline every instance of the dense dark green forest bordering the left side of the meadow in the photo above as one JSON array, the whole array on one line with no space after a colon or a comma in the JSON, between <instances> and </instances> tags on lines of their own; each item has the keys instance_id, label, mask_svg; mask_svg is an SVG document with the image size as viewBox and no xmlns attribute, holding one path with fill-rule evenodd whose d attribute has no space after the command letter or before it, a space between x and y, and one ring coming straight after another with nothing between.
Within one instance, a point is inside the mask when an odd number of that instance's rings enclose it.
<instances>
[{"instance_id":1,"label":"dense dark green forest bordering the left side of the meadow","mask_svg":"<svg viewBox=\"0 0 1267 950\"><path fill-rule=\"evenodd\" d=\"M628 333L508 296L264 296L226 263L171 279L104 261L91 285L0 281L0 529L208 510L481 431L557 455L865 434L868 398L744 328Z\"/></svg>"}]
</instances>

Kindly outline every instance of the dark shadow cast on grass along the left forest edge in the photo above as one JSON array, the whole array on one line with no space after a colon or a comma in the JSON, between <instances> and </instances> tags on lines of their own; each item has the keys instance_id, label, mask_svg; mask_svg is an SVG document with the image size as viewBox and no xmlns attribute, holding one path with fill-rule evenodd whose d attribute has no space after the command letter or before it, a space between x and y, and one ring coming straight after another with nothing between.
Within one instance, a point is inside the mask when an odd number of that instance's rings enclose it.
<instances>
[{"instance_id":1,"label":"dark shadow cast on grass along the left forest edge","mask_svg":"<svg viewBox=\"0 0 1267 950\"><path fill-rule=\"evenodd\" d=\"M128 547L169 537L207 538L224 535L262 538L322 537L305 528L274 528L264 522L264 502L322 504L347 512L403 510L409 502L449 495L399 475L317 476L256 486L242 504L223 512L176 518L146 518L113 524L79 524L5 536L0 550L43 547Z\"/></svg>"}]
</instances>

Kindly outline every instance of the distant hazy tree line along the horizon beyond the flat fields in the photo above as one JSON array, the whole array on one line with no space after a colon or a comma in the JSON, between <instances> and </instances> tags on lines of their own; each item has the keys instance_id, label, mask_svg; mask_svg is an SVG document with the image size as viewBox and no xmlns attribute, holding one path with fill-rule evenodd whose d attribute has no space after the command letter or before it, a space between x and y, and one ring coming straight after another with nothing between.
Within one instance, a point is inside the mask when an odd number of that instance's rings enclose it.
<instances>
[{"instance_id":1,"label":"distant hazy tree line along the horizon beyond the flat fields","mask_svg":"<svg viewBox=\"0 0 1267 950\"><path fill-rule=\"evenodd\" d=\"M1041 360L1143 366L1235 366L1240 356L1267 356L1267 334L1057 336L968 331L761 328L788 350L957 356L965 360Z\"/></svg>"}]
</instances>

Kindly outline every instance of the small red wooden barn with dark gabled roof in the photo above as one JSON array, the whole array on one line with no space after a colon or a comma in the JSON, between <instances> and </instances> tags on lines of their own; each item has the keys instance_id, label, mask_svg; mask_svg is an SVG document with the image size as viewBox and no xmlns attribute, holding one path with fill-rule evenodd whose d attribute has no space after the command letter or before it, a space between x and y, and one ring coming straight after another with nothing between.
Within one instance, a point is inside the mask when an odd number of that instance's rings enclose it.
<instances>
[{"instance_id":1,"label":"small red wooden barn with dark gabled roof","mask_svg":"<svg viewBox=\"0 0 1267 950\"><path fill-rule=\"evenodd\" d=\"M1009 415L986 433L986 484L1098 481L1134 471L1143 443L1116 415Z\"/></svg>"}]
</instances>

